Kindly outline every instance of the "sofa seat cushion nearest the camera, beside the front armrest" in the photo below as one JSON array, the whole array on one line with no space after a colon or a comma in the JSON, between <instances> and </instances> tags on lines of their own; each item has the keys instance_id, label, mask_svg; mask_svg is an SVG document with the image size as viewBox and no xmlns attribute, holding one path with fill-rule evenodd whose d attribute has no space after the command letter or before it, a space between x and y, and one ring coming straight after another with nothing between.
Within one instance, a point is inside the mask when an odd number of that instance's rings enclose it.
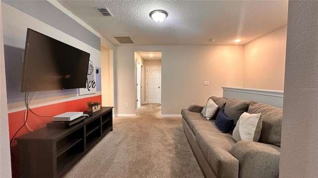
<instances>
[{"instance_id":1,"label":"sofa seat cushion nearest the camera, beside the front armrest","mask_svg":"<svg viewBox=\"0 0 318 178\"><path fill-rule=\"evenodd\" d=\"M239 177L239 160L230 153L236 143L231 134L201 130L197 131L196 140L206 160L219 178Z\"/></svg>"}]
</instances>

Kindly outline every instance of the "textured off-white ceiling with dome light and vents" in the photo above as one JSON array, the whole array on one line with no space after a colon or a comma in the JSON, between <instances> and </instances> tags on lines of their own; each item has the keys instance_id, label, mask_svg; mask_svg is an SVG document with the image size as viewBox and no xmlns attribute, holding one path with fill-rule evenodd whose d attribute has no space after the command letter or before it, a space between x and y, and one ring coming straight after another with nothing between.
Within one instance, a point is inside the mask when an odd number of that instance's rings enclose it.
<instances>
[{"instance_id":1,"label":"textured off-white ceiling with dome light and vents","mask_svg":"<svg viewBox=\"0 0 318 178\"><path fill-rule=\"evenodd\" d=\"M58 1L113 45L124 45L116 35L131 36L130 45L244 45L286 25L288 10L287 0ZM113 17L96 7L107 7ZM149 16L156 9L168 12L163 22Z\"/></svg>"}]
</instances>

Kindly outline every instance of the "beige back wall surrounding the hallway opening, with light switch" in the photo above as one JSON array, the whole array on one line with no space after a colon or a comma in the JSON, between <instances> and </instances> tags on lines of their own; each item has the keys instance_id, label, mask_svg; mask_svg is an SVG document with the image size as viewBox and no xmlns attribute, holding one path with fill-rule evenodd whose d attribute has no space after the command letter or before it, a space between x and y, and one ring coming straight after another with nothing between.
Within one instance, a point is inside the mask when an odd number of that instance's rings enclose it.
<instances>
[{"instance_id":1,"label":"beige back wall surrounding the hallway opening, with light switch","mask_svg":"<svg viewBox=\"0 0 318 178\"><path fill-rule=\"evenodd\" d=\"M179 115L191 103L204 104L211 95L222 96L222 86L242 87L242 45L116 46L116 114L135 114L135 51L162 52L161 114ZM203 81L210 81L210 86L203 86Z\"/></svg>"}]
</instances>

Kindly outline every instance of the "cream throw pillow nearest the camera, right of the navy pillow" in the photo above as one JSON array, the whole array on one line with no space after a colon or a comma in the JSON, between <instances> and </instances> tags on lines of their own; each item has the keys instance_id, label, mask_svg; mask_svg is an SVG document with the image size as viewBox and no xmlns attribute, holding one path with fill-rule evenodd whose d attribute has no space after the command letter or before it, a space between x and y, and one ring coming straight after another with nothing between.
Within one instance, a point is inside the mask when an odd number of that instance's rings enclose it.
<instances>
[{"instance_id":1,"label":"cream throw pillow nearest the camera, right of the navy pillow","mask_svg":"<svg viewBox=\"0 0 318 178\"><path fill-rule=\"evenodd\" d=\"M233 130L233 139L236 141L258 141L262 130L261 114L249 114L244 112L240 115L236 127Z\"/></svg>"}]
</instances>

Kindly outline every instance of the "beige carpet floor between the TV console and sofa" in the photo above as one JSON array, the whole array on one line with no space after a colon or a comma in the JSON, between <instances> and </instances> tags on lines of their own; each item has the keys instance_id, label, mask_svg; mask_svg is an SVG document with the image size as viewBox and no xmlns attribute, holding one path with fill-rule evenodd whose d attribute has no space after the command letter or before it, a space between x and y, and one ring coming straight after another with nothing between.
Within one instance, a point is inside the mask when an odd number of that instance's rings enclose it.
<instances>
[{"instance_id":1,"label":"beige carpet floor between the TV console and sofa","mask_svg":"<svg viewBox=\"0 0 318 178\"><path fill-rule=\"evenodd\" d=\"M136 117L113 118L113 131L65 178L204 178L181 117L160 111L160 104L145 104Z\"/></svg>"}]
</instances>

